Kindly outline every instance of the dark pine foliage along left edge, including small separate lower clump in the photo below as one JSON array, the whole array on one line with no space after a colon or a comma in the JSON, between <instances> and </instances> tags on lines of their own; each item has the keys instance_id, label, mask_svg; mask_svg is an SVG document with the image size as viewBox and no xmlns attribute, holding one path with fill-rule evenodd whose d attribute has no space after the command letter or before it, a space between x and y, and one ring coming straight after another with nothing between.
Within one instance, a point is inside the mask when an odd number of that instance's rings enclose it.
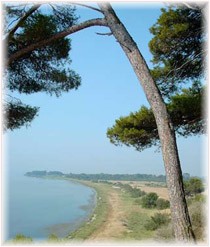
<instances>
[{"instance_id":1,"label":"dark pine foliage along left edge, including small separate lower clump","mask_svg":"<svg viewBox=\"0 0 210 247\"><path fill-rule=\"evenodd\" d=\"M42 7L41 5L20 23L15 32L10 32L17 23L14 20L20 20L30 12L32 7L35 5L23 4L5 7L4 31L8 41L8 58L30 45L39 43L67 27L71 27L77 20L71 6L47 4ZM49 45L28 52L6 68L6 88L11 92L25 94L45 92L56 96L60 96L63 92L69 92L71 89L77 89L80 86L81 78L69 68L70 50L71 40L61 38ZM5 115L8 116L5 128L13 130L22 125L28 125L37 115L38 108L22 104L20 109L19 104L16 106L14 103L12 104L13 118L9 118L11 103L5 104L7 111ZM15 113L16 110L17 113Z\"/></svg>"}]
</instances>

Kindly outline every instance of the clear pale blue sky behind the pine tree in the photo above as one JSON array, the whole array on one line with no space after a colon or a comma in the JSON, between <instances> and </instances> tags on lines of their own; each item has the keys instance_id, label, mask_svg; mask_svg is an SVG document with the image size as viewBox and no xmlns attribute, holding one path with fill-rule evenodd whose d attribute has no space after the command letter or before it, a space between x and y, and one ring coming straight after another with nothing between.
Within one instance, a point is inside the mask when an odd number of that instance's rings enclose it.
<instances>
[{"instance_id":1,"label":"clear pale blue sky behind the pine tree","mask_svg":"<svg viewBox=\"0 0 210 247\"><path fill-rule=\"evenodd\" d=\"M149 28L164 5L112 4L148 65L152 55ZM80 21L101 17L93 10L78 8ZM107 28L91 27L70 36L71 69L82 77L78 90L61 97L43 93L19 95L23 103L40 107L31 126L4 135L5 169L24 174L32 170L59 170L64 173L165 174L160 150L138 152L117 147L106 137L120 116L148 105L143 90L120 45L113 36L100 36ZM178 138L183 172L204 176L207 138Z\"/></svg>"}]
</instances>

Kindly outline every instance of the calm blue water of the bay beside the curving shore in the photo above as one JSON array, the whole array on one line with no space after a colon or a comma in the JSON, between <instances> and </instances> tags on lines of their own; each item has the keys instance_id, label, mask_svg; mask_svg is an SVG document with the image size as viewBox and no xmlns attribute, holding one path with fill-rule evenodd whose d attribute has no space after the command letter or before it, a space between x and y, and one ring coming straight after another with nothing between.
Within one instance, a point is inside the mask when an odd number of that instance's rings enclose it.
<instances>
[{"instance_id":1,"label":"calm blue water of the bay beside the curving shore","mask_svg":"<svg viewBox=\"0 0 210 247\"><path fill-rule=\"evenodd\" d=\"M64 180L19 176L9 180L6 200L6 240L17 234L64 237L91 214L95 191Z\"/></svg>"}]
</instances>

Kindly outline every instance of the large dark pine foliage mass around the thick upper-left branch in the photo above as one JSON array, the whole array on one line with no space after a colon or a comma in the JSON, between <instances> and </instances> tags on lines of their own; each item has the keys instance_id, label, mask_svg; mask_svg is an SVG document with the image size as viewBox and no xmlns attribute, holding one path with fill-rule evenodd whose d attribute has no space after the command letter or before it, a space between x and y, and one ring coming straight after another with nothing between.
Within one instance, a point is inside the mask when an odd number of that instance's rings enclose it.
<instances>
[{"instance_id":1,"label":"large dark pine foliage mass around the thick upper-left branch","mask_svg":"<svg viewBox=\"0 0 210 247\"><path fill-rule=\"evenodd\" d=\"M21 31L8 43L8 56L24 47L37 43L56 34L59 29L53 15L35 12L21 26ZM65 68L69 64L68 53L70 40L62 38L52 44L27 53L23 58L14 61L8 68L8 85L11 91L20 93L46 92L61 95L80 85L79 76Z\"/></svg>"}]
</instances>

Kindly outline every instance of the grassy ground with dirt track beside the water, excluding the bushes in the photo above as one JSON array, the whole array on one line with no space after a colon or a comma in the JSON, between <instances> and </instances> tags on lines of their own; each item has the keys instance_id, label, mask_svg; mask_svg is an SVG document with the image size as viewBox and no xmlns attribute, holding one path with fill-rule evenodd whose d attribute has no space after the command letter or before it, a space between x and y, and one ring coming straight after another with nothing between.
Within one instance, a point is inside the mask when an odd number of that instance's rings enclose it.
<instances>
[{"instance_id":1,"label":"grassy ground with dirt track beside the water, excluding the bushes","mask_svg":"<svg viewBox=\"0 0 210 247\"><path fill-rule=\"evenodd\" d=\"M163 225L157 230L148 230L145 227L148 221L151 221L151 216L157 213L170 214L170 209L145 209L137 202L139 199L132 198L129 192L117 189L113 184L85 183L95 188L98 193L98 205L94 212L96 217L94 217L93 221L88 222L88 224L85 223L82 228L71 234L72 239L85 240L85 243L89 241L101 243L109 240L118 243L132 241L138 241L139 243L148 241L153 243L173 242L171 224ZM147 189L147 186L145 187ZM144 190L143 185L141 185L141 189ZM162 198L167 198L165 190L165 188L151 187L151 191L156 192ZM198 209L195 199L191 203ZM190 208L192 205L190 205ZM204 241L205 238L201 234L203 231L203 223L201 221L203 220L200 212L202 210L194 210L194 212L191 212L191 217L197 239Z\"/></svg>"}]
</instances>

